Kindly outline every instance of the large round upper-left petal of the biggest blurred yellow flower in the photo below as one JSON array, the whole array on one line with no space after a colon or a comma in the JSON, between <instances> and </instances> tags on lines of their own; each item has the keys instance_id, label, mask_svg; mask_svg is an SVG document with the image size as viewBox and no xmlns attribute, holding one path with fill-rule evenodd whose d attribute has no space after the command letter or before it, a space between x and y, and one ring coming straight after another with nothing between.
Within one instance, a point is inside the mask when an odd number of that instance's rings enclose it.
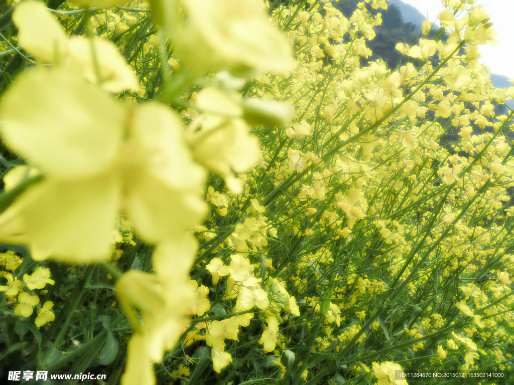
<instances>
[{"instance_id":1,"label":"large round upper-left petal of the biggest blurred yellow flower","mask_svg":"<svg viewBox=\"0 0 514 385\"><path fill-rule=\"evenodd\" d=\"M0 108L5 143L59 178L112 166L126 118L121 104L76 75L40 69L22 76Z\"/></svg>"}]
</instances>

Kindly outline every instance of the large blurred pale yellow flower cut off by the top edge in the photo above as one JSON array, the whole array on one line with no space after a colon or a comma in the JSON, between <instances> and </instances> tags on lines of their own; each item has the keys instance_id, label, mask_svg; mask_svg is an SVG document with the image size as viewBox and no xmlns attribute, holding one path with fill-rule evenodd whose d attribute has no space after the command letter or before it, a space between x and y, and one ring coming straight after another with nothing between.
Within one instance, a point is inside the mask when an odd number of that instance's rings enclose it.
<instances>
[{"instance_id":1,"label":"large blurred pale yellow flower cut off by the top edge","mask_svg":"<svg viewBox=\"0 0 514 385\"><path fill-rule=\"evenodd\" d=\"M294 68L286 37L268 20L258 0L187 0L188 19L172 26L177 56L193 70L237 75Z\"/></svg>"}]
</instances>

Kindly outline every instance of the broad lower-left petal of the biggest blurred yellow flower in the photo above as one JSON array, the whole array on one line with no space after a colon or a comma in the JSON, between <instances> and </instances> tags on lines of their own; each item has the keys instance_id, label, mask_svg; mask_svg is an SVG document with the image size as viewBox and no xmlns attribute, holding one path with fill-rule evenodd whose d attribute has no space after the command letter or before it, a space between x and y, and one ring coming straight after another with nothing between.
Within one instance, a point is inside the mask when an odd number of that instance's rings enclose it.
<instances>
[{"instance_id":1,"label":"broad lower-left petal of the biggest blurred yellow flower","mask_svg":"<svg viewBox=\"0 0 514 385\"><path fill-rule=\"evenodd\" d=\"M114 175L69 182L47 179L24 192L0 215L0 223L4 216L19 220L20 238L29 243L35 260L98 261L111 251L118 208Z\"/></svg>"}]
</instances>

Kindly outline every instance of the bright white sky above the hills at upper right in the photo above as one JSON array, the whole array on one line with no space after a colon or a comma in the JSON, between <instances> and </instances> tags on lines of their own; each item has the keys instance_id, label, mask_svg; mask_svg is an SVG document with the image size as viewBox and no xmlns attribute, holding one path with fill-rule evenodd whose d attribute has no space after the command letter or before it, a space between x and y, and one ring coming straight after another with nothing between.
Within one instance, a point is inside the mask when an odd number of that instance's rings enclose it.
<instances>
[{"instance_id":1,"label":"bright white sky above the hills at upper right","mask_svg":"<svg viewBox=\"0 0 514 385\"><path fill-rule=\"evenodd\" d=\"M429 20L435 21L436 15L444 9L441 0L402 0L419 10ZM514 0L477 0L491 16L492 28L499 31L499 46L487 44L480 47L483 64L489 66L492 73L514 79Z\"/></svg>"}]
</instances>

